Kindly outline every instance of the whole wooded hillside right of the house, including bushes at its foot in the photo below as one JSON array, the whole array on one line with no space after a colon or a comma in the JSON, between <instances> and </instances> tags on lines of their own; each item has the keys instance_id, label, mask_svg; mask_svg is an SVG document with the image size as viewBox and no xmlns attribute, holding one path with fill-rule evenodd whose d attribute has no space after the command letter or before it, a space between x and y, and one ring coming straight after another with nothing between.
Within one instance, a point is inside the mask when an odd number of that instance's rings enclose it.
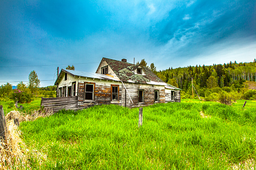
<instances>
[{"instance_id":1,"label":"whole wooded hillside right of the house, including bushes at its foot","mask_svg":"<svg viewBox=\"0 0 256 170\"><path fill-rule=\"evenodd\" d=\"M144 59L141 60L140 64L150 68L164 82L181 88L182 98L191 98L193 80L194 93L197 91L198 95L206 97L206 100L217 101L217 98L219 98L217 93L220 93L220 91L228 92L229 95L235 96L235 98L256 99L256 90L251 90L255 89L253 86L256 82L255 59L249 63L236 63L236 61L232 63L230 61L223 65L196 65L176 69L171 66L162 71L157 71L153 63L147 66ZM252 88L248 89L248 85ZM197 94L195 93L195 95Z\"/></svg>"}]
</instances>

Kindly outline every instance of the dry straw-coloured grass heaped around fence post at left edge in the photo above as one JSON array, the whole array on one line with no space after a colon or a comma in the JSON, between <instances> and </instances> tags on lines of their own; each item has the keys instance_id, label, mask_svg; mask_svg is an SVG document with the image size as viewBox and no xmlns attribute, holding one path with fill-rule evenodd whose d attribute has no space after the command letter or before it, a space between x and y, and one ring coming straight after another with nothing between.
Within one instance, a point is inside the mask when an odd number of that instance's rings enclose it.
<instances>
[{"instance_id":1,"label":"dry straw-coloured grass heaped around fence post at left edge","mask_svg":"<svg viewBox=\"0 0 256 170\"><path fill-rule=\"evenodd\" d=\"M14 119L22 121L33 121L38 117L46 117L53 114L52 110L35 110L32 115L13 110L6 115L8 135L6 141L0 139L0 169L24 169L30 168L28 164L28 152L26 144L20 138L21 131L14 124ZM41 153L35 152L35 156ZM45 157L45 156L44 156Z\"/></svg>"}]
</instances>

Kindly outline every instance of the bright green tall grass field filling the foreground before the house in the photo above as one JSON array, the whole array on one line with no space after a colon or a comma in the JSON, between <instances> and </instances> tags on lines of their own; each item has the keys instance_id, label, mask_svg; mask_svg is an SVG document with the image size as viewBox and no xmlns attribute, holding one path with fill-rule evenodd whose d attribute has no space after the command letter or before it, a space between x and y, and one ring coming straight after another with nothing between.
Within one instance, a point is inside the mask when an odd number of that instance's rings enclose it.
<instances>
[{"instance_id":1,"label":"bright green tall grass field filling the foreground before the house","mask_svg":"<svg viewBox=\"0 0 256 170\"><path fill-rule=\"evenodd\" d=\"M243 169L256 156L256 103L243 102L154 104L139 129L139 108L116 105L62 110L20 129L35 169Z\"/></svg>"}]
</instances>

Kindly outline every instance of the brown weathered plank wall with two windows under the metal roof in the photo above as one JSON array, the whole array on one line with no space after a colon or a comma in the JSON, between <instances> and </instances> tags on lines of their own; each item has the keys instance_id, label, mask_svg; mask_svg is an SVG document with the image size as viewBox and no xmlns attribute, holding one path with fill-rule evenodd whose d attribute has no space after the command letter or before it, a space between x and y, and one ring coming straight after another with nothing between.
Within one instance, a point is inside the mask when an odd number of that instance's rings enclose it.
<instances>
[{"instance_id":1,"label":"brown weathered plank wall with two windows under the metal roof","mask_svg":"<svg viewBox=\"0 0 256 170\"><path fill-rule=\"evenodd\" d=\"M94 100L84 100L84 82L95 83ZM111 101L111 85L119 85L119 100ZM121 82L111 80L93 80L79 79L78 80L78 107L90 107L93 105L102 104L122 104L122 84Z\"/></svg>"}]
</instances>

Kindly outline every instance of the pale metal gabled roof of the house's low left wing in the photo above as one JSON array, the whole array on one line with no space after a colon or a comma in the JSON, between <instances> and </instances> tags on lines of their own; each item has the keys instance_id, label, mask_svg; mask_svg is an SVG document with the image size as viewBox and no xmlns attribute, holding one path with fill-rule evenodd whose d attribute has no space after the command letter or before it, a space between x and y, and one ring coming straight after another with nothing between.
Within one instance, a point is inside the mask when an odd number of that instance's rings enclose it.
<instances>
[{"instance_id":1,"label":"pale metal gabled roof of the house's low left wing","mask_svg":"<svg viewBox=\"0 0 256 170\"><path fill-rule=\"evenodd\" d=\"M62 73L67 73L71 76L81 76L81 77L90 77L90 78L96 78L96 79L104 79L104 80L114 80L114 81L119 81L111 76L105 75L105 74L98 74L98 73L90 73L90 72L84 72L84 71L76 71L76 70L65 70L61 69L59 76L57 77L54 85L56 85L59 77L61 76Z\"/></svg>"}]
</instances>

